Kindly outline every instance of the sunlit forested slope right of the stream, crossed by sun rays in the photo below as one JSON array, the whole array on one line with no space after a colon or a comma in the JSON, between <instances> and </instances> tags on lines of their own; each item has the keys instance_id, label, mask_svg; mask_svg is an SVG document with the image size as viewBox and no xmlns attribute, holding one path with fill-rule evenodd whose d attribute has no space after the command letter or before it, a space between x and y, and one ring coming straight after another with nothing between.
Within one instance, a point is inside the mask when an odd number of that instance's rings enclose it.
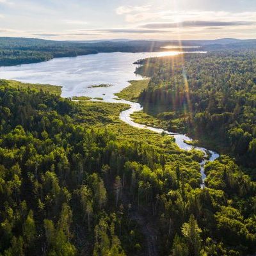
<instances>
[{"instance_id":1,"label":"sunlit forested slope right of the stream, crossed by sun rays","mask_svg":"<svg viewBox=\"0 0 256 256\"><path fill-rule=\"evenodd\" d=\"M159 114L170 130L189 132L238 163L256 167L255 49L139 63L145 65L136 72L151 77L140 95L149 113Z\"/></svg>"}]
</instances>

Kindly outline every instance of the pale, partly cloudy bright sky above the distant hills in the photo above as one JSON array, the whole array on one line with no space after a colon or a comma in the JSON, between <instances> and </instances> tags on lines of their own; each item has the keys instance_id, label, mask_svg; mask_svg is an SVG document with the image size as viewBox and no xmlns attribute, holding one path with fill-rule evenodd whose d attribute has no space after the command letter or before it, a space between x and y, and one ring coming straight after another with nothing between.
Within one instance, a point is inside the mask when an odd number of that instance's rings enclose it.
<instances>
[{"instance_id":1,"label":"pale, partly cloudy bright sky above the distant hills","mask_svg":"<svg viewBox=\"0 0 256 256\"><path fill-rule=\"evenodd\" d=\"M0 36L256 38L256 0L0 0Z\"/></svg>"}]
</instances>

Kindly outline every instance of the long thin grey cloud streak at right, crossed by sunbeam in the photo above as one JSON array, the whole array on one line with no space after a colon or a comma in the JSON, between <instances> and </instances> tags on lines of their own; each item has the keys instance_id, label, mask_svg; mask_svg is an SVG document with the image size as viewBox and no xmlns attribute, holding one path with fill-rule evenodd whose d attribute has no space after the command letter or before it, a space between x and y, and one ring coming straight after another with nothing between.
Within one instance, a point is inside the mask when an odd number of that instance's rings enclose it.
<instances>
[{"instance_id":1,"label":"long thin grey cloud streak at right, crossed by sunbeam","mask_svg":"<svg viewBox=\"0 0 256 256\"><path fill-rule=\"evenodd\" d=\"M246 26L253 25L251 21L215 21L215 20L187 20L184 22L159 22L148 23L141 28L148 29L170 29L170 28L196 28L196 27L226 27L226 26Z\"/></svg>"}]
</instances>

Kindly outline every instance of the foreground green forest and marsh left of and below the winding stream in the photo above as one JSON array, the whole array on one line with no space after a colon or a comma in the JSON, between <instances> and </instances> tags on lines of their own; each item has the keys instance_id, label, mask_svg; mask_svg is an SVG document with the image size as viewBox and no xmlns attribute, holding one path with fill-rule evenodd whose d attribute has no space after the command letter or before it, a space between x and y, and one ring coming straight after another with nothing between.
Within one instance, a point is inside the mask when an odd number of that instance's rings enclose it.
<instances>
[{"instance_id":1,"label":"foreground green forest and marsh left of and below the winding stream","mask_svg":"<svg viewBox=\"0 0 256 256\"><path fill-rule=\"evenodd\" d=\"M141 255L143 213L156 225L162 255L255 252L256 186L232 159L207 163L200 189L202 154L123 124L126 105L72 102L6 83L1 255Z\"/></svg>"}]
</instances>

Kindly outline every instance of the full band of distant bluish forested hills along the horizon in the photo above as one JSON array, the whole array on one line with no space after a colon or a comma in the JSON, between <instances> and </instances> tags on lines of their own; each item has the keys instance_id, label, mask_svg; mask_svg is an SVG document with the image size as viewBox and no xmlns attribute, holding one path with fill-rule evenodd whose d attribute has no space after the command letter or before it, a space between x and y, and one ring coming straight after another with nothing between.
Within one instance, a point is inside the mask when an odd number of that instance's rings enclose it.
<instances>
[{"instance_id":1,"label":"full band of distant bluish forested hills along the horizon","mask_svg":"<svg viewBox=\"0 0 256 256\"><path fill-rule=\"evenodd\" d=\"M256 45L256 40L193 40L193 41L102 41L68 42L36 38L0 38L0 66L36 63L59 57L74 57L98 52L150 52L166 51L165 45L201 46L200 50L241 49ZM189 49L183 49L188 51Z\"/></svg>"}]
</instances>

